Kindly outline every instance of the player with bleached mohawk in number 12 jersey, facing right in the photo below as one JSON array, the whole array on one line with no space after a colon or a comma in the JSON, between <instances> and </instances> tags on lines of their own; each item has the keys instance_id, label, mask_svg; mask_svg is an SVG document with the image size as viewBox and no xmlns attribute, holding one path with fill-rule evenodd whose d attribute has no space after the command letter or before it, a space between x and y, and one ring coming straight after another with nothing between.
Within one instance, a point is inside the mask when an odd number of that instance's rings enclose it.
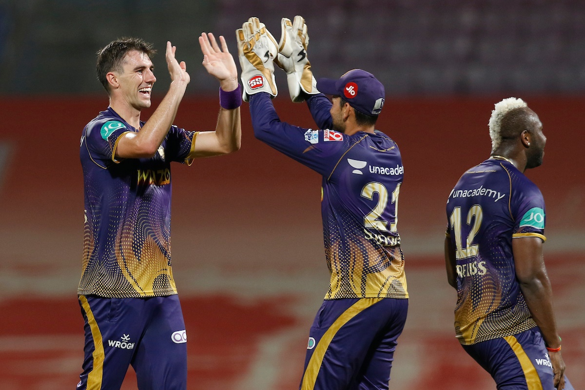
<instances>
[{"instance_id":1,"label":"player with bleached mohawk in number 12 jersey, facing right","mask_svg":"<svg viewBox=\"0 0 585 390\"><path fill-rule=\"evenodd\" d=\"M521 99L495 105L491 156L447 200L445 262L455 332L498 389L573 389L565 377L542 256L546 212L524 171L542 164L542 123Z\"/></svg>"}]
</instances>

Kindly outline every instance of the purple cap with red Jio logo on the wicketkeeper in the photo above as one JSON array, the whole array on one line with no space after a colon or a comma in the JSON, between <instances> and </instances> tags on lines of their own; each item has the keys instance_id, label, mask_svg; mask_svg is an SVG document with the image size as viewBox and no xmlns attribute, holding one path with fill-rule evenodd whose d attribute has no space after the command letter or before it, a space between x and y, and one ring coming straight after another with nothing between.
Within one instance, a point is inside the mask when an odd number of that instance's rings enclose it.
<instances>
[{"instance_id":1,"label":"purple cap with red Jio logo on the wicketkeeper","mask_svg":"<svg viewBox=\"0 0 585 390\"><path fill-rule=\"evenodd\" d=\"M353 69L339 80L319 78L317 89L326 95L341 96L357 111L378 115L384 106L384 85L373 74Z\"/></svg>"}]
</instances>

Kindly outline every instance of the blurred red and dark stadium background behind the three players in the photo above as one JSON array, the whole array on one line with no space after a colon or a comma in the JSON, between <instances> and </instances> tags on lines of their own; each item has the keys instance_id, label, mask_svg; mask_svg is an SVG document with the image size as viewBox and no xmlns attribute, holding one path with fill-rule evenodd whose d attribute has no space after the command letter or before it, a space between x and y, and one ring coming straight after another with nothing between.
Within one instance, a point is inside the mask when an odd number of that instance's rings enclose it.
<instances>
[{"instance_id":1,"label":"blurred red and dark stadium background behind the three players","mask_svg":"<svg viewBox=\"0 0 585 390\"><path fill-rule=\"evenodd\" d=\"M490 152L493 104L524 98L548 137L528 171L545 196L545 260L567 374L585 387L585 3L578 0L0 0L0 388L73 388L82 359L76 288L82 250L78 142L105 109L95 52L121 36L153 42L155 104L168 87L164 43L191 84L176 124L215 126L217 82L197 37L258 16L276 36L302 15L316 77L377 75L378 128L401 148L400 223L410 311L391 388L493 389L453 337L456 294L442 260L444 205ZM237 62L237 60L236 60ZM281 118L314 124L288 101ZM147 118L146 112L143 118ZM173 265L189 336L190 389L296 389L308 328L325 294L320 178L255 140L242 107L242 150L173 170ZM136 388L132 370L123 389Z\"/></svg>"}]
</instances>

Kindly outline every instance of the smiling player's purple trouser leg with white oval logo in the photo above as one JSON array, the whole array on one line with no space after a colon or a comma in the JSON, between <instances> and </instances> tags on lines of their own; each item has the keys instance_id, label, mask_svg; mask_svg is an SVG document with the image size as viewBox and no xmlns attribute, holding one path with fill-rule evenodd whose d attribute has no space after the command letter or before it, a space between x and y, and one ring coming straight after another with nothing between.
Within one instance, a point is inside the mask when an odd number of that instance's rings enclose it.
<instances>
[{"instance_id":1,"label":"smiling player's purple trouser leg with white oval logo","mask_svg":"<svg viewBox=\"0 0 585 390\"><path fill-rule=\"evenodd\" d=\"M132 361L139 390L187 389L187 333L178 295L144 299L144 329Z\"/></svg>"}]
</instances>

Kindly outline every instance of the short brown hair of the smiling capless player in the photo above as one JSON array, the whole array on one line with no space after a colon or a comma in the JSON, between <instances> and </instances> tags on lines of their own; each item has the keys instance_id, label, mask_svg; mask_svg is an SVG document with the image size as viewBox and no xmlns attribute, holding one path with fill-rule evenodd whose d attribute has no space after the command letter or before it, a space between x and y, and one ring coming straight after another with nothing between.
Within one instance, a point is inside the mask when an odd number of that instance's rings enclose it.
<instances>
[{"instance_id":1,"label":"short brown hair of the smiling capless player","mask_svg":"<svg viewBox=\"0 0 585 390\"><path fill-rule=\"evenodd\" d=\"M152 57L156 50L153 49L152 43L144 42L140 38L123 37L108 43L108 46L98 51L98 61L95 70L98 74L98 80L104 86L109 94L108 80L106 74L111 71L122 71L122 61L126 53L130 50L142 51L147 56Z\"/></svg>"}]
</instances>

